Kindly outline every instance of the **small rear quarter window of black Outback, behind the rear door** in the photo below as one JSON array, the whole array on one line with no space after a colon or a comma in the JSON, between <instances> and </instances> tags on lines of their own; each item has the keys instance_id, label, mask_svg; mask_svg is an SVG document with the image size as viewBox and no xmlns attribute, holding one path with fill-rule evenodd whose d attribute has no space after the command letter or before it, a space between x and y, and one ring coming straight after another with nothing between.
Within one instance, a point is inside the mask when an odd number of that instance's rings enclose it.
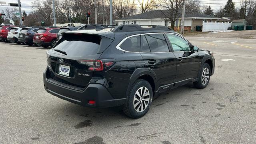
<instances>
[{"instance_id":1,"label":"small rear quarter window of black Outback, behind the rear door","mask_svg":"<svg viewBox=\"0 0 256 144\"><path fill-rule=\"evenodd\" d=\"M127 38L120 45L120 48L128 52L140 52L140 36Z\"/></svg>"}]
</instances>

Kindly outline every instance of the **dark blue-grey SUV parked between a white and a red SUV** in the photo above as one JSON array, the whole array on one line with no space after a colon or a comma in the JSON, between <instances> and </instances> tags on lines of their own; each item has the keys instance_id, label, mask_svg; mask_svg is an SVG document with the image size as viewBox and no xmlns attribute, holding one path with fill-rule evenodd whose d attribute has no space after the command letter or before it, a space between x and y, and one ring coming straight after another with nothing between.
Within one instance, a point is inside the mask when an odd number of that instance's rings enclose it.
<instances>
[{"instance_id":1,"label":"dark blue-grey SUV parked between a white and a red SUV","mask_svg":"<svg viewBox=\"0 0 256 144\"><path fill-rule=\"evenodd\" d=\"M22 30L19 33L18 41L23 42L24 44L27 44L29 46L32 46L34 44L33 43L34 34L41 27L42 26L32 26L32 27L22 28ZM40 44L37 44L36 46L40 46Z\"/></svg>"}]
</instances>

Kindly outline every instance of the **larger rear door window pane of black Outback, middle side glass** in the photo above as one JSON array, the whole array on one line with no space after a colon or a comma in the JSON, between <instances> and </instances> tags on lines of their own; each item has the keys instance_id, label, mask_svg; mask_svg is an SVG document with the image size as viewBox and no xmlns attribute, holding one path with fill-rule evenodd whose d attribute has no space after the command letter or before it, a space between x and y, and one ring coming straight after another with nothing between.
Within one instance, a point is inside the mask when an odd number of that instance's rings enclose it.
<instances>
[{"instance_id":1,"label":"larger rear door window pane of black Outback, middle side glass","mask_svg":"<svg viewBox=\"0 0 256 144\"><path fill-rule=\"evenodd\" d=\"M151 52L169 52L164 34L145 35Z\"/></svg>"}]
</instances>

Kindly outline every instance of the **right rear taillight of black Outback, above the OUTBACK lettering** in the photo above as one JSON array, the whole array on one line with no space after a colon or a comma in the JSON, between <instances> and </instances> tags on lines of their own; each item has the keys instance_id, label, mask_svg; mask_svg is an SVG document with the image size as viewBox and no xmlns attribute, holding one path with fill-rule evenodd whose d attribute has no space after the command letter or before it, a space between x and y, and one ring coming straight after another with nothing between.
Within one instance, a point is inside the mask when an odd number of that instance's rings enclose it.
<instances>
[{"instance_id":1,"label":"right rear taillight of black Outback, above the OUTBACK lettering","mask_svg":"<svg viewBox=\"0 0 256 144\"><path fill-rule=\"evenodd\" d=\"M104 67L112 66L114 62L102 62L101 60L77 60L79 64L84 64L89 68L89 71L103 71Z\"/></svg>"}]
</instances>

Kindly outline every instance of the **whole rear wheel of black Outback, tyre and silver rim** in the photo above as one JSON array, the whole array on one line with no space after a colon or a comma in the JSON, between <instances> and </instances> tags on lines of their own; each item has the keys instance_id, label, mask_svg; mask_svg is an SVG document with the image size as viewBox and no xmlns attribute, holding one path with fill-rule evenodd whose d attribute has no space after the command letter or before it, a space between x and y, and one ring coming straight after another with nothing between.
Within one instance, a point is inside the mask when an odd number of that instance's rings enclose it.
<instances>
[{"instance_id":1,"label":"whole rear wheel of black Outback, tyre and silver rim","mask_svg":"<svg viewBox=\"0 0 256 144\"><path fill-rule=\"evenodd\" d=\"M153 92L149 82L138 79L130 89L123 111L131 118L140 118L148 112L152 98Z\"/></svg>"}]
</instances>

